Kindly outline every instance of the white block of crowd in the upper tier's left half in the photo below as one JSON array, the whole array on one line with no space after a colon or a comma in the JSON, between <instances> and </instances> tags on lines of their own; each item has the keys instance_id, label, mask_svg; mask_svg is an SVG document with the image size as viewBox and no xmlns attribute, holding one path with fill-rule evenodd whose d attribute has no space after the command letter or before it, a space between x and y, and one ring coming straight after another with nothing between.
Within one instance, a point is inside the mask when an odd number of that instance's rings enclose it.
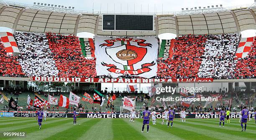
<instances>
[{"instance_id":1,"label":"white block of crowd in the upper tier's left half","mask_svg":"<svg viewBox=\"0 0 256 140\"><path fill-rule=\"evenodd\" d=\"M45 34L16 32L15 39L20 50L18 61L26 76L58 75Z\"/></svg>"}]
</instances>

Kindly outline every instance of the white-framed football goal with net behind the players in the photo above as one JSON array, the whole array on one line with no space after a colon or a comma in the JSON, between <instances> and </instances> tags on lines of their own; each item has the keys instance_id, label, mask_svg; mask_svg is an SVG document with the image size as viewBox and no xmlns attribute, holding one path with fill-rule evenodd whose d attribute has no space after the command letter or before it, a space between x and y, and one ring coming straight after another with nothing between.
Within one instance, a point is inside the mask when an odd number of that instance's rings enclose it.
<instances>
[{"instance_id":1,"label":"white-framed football goal with net behind the players","mask_svg":"<svg viewBox=\"0 0 256 140\"><path fill-rule=\"evenodd\" d=\"M144 106L135 106L135 107L127 107L127 106L120 106L120 114L130 114L132 110L135 110L136 114L140 114L144 110L146 110L146 107ZM156 107L154 106L148 106L148 111L156 111Z\"/></svg>"}]
</instances>

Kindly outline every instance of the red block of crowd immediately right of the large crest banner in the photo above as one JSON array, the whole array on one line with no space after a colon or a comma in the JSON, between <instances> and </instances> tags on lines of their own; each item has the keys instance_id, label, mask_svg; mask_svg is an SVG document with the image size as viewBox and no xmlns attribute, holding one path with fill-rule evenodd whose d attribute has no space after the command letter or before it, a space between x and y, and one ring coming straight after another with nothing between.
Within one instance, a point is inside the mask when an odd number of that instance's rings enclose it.
<instances>
[{"instance_id":1,"label":"red block of crowd immediately right of the large crest banner","mask_svg":"<svg viewBox=\"0 0 256 140\"><path fill-rule=\"evenodd\" d=\"M198 78L206 39L206 35L191 34L176 39L173 58L157 61L157 78Z\"/></svg>"}]
</instances>

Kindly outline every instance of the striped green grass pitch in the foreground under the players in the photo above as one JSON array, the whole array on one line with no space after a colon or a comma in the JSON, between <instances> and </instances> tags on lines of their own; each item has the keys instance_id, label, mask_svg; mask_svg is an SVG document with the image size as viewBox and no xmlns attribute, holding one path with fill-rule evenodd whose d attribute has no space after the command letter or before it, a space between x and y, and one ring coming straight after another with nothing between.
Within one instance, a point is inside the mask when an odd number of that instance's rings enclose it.
<instances>
[{"instance_id":1,"label":"striped green grass pitch in the foreground under the players","mask_svg":"<svg viewBox=\"0 0 256 140\"><path fill-rule=\"evenodd\" d=\"M26 137L3 137L0 140L256 140L255 120L249 121L246 132L241 132L238 119L231 119L219 127L219 119L187 119L182 123L174 119L173 127L156 125L150 121L149 133L141 133L142 119L130 123L129 119L106 118L47 118L42 129L36 118L0 118L0 133L26 132Z\"/></svg>"}]
</instances>

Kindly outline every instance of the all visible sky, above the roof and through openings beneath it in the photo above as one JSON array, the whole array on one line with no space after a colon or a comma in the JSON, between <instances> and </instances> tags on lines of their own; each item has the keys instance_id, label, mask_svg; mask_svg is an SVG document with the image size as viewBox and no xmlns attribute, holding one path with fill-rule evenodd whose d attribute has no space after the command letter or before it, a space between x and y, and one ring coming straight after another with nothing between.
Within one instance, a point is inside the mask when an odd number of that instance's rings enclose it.
<instances>
[{"instance_id":1,"label":"all visible sky, above the roof and through openings beneath it","mask_svg":"<svg viewBox=\"0 0 256 140\"><path fill-rule=\"evenodd\" d=\"M15 2L31 4L33 2L40 2L53 5L63 5L74 7L75 10L83 10L89 12L115 12L115 13L168 13L174 11L181 11L182 8L194 8L194 7L207 7L216 5L223 5L223 7L232 7L236 5L252 5L254 0L11 0ZM5 27L0 27L0 32L9 31ZM256 34L256 30L246 30L241 32L242 37L253 37ZM91 33L78 33L78 37L93 37ZM175 38L176 34L160 34L160 39L172 39Z\"/></svg>"}]
</instances>

